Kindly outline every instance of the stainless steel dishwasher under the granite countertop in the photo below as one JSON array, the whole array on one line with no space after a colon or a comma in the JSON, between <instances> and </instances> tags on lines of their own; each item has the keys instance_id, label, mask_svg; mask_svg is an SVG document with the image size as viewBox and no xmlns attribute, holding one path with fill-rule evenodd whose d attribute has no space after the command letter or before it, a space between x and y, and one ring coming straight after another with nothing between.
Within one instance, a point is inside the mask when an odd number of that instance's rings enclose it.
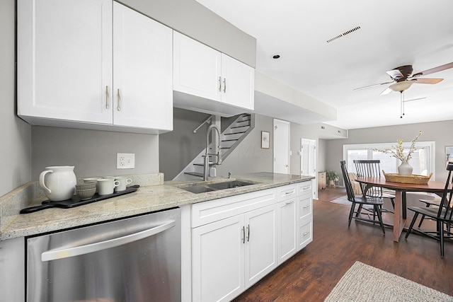
<instances>
[{"instance_id":1,"label":"stainless steel dishwasher under the granite countertop","mask_svg":"<svg viewBox=\"0 0 453 302\"><path fill-rule=\"evenodd\" d=\"M180 301L180 209L27 238L27 301Z\"/></svg>"}]
</instances>

